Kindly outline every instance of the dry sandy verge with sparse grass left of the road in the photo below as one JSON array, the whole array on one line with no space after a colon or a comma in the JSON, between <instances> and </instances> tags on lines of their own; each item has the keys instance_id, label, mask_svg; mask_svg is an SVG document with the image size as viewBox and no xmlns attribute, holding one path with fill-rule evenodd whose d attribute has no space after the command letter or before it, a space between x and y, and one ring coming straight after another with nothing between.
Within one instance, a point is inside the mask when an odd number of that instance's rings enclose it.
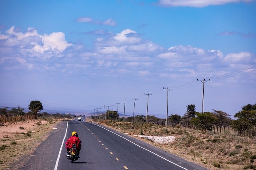
<instances>
[{"instance_id":1,"label":"dry sandy verge with sparse grass left of the road","mask_svg":"<svg viewBox=\"0 0 256 170\"><path fill-rule=\"evenodd\" d=\"M31 154L55 126L51 121L24 121L0 126L0 169L10 169L26 154Z\"/></svg>"}]
</instances>

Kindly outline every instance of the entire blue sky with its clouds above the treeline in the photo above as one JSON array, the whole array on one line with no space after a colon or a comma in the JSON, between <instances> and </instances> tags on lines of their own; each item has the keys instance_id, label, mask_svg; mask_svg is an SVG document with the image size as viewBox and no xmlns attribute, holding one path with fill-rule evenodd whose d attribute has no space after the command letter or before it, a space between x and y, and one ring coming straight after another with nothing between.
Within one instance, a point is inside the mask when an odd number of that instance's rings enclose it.
<instances>
[{"instance_id":1,"label":"entire blue sky with its clouds above the treeline","mask_svg":"<svg viewBox=\"0 0 256 170\"><path fill-rule=\"evenodd\" d=\"M255 0L1 0L0 106L165 118L256 103ZM106 109L106 108L105 108ZM100 109L98 109L100 111Z\"/></svg>"}]
</instances>

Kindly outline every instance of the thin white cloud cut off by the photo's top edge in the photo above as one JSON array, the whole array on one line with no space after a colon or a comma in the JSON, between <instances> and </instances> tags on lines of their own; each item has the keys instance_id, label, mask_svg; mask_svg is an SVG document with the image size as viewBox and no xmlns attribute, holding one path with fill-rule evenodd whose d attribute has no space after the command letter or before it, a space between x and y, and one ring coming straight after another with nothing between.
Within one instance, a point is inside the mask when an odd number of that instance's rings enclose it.
<instances>
[{"instance_id":1,"label":"thin white cloud cut off by the photo's top edge","mask_svg":"<svg viewBox=\"0 0 256 170\"><path fill-rule=\"evenodd\" d=\"M214 5L224 5L229 3L252 2L252 0L158 0L160 6L188 6L188 7L206 7Z\"/></svg>"}]
</instances>

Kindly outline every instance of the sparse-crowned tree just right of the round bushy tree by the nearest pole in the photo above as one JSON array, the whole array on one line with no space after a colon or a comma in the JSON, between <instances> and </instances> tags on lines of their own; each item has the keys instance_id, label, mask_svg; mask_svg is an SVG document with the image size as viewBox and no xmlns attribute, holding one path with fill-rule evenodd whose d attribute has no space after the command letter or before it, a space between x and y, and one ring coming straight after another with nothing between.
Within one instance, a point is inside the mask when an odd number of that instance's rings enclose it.
<instances>
[{"instance_id":1,"label":"sparse-crowned tree just right of the round bushy tree by the nearest pole","mask_svg":"<svg viewBox=\"0 0 256 170\"><path fill-rule=\"evenodd\" d=\"M230 123L232 122L232 119L230 119L230 115L224 111L221 110L213 110L213 114L216 116L216 125L219 127L222 126L229 126Z\"/></svg>"}]
</instances>

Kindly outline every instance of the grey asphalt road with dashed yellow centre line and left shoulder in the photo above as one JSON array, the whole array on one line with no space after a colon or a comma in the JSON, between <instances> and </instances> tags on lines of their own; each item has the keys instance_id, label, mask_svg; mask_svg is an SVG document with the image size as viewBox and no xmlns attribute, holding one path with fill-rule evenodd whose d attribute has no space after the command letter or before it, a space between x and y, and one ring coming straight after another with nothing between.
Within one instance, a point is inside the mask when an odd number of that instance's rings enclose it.
<instances>
[{"instance_id":1,"label":"grey asphalt road with dashed yellow centre line and left shoulder","mask_svg":"<svg viewBox=\"0 0 256 170\"><path fill-rule=\"evenodd\" d=\"M206 170L98 124L63 121L57 128L32 156L21 161L23 166L19 170ZM76 131L82 140L80 159L74 164L65 157L65 144L62 145L72 131Z\"/></svg>"}]
</instances>

